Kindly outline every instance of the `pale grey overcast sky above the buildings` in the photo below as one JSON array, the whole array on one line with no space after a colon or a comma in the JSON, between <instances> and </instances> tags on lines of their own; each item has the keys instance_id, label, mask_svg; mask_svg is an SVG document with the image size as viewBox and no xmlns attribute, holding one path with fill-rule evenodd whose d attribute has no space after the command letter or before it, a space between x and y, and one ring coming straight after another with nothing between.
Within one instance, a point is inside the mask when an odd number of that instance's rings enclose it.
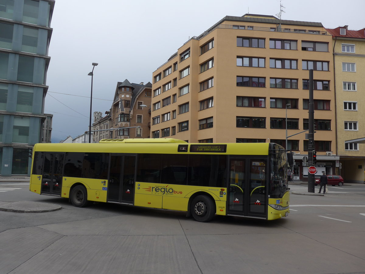
<instances>
[{"instance_id":1,"label":"pale grey overcast sky above the buildings","mask_svg":"<svg viewBox=\"0 0 365 274\"><path fill-rule=\"evenodd\" d=\"M281 19L324 27L365 27L364 0L282 0ZM189 37L226 15L276 15L280 0L56 0L49 47L45 113L53 114L52 142L88 130L92 63L92 112L111 108L116 84L152 83L152 72ZM56 93L57 92L57 93ZM73 96L77 95L77 96ZM85 97L80 97L85 96Z\"/></svg>"}]
</instances>

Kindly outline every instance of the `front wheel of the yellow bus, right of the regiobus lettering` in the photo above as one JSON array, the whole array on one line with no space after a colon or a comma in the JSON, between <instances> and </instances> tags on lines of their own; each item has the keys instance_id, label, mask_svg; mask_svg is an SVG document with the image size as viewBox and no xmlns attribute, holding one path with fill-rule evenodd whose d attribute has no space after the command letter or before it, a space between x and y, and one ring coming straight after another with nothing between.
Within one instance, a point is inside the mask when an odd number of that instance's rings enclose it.
<instances>
[{"instance_id":1,"label":"front wheel of the yellow bus, right of the regiobus lettering","mask_svg":"<svg viewBox=\"0 0 365 274\"><path fill-rule=\"evenodd\" d=\"M215 203L205 195L196 196L191 202L190 212L198 222L208 222L215 215Z\"/></svg>"}]
</instances>

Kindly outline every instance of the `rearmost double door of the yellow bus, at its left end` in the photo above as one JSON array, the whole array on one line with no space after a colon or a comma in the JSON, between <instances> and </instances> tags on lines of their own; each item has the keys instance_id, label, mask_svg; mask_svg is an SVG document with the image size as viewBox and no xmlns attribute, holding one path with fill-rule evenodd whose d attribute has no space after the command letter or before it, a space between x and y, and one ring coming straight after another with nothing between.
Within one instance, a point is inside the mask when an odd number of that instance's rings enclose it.
<instances>
[{"instance_id":1,"label":"rearmost double door of the yellow bus, at its left end","mask_svg":"<svg viewBox=\"0 0 365 274\"><path fill-rule=\"evenodd\" d=\"M41 194L61 196L64 157L64 153L45 153Z\"/></svg>"}]
</instances>

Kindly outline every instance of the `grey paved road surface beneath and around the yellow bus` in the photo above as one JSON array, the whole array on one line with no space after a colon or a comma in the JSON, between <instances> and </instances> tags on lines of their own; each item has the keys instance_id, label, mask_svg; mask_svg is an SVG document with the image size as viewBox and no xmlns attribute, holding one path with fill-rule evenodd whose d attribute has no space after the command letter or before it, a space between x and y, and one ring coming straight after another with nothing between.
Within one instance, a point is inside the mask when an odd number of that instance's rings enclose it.
<instances>
[{"instance_id":1,"label":"grey paved road surface beneath and around the yellow bus","mask_svg":"<svg viewBox=\"0 0 365 274\"><path fill-rule=\"evenodd\" d=\"M0 203L62 206L0 211L0 274L365 273L365 185L338 188L292 194L291 212L279 220L217 216L200 223L170 210L75 208L31 193L27 183L0 183Z\"/></svg>"}]
</instances>

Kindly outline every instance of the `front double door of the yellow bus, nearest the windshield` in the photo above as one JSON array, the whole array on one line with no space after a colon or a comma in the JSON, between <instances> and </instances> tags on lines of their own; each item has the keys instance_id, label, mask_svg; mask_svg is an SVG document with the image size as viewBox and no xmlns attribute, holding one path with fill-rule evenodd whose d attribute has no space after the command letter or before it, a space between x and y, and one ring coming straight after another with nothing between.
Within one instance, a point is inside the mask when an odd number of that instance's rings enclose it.
<instances>
[{"instance_id":1,"label":"front double door of the yellow bus, nearest the windshield","mask_svg":"<svg viewBox=\"0 0 365 274\"><path fill-rule=\"evenodd\" d=\"M266 159L229 161L228 214L266 217Z\"/></svg>"}]
</instances>

